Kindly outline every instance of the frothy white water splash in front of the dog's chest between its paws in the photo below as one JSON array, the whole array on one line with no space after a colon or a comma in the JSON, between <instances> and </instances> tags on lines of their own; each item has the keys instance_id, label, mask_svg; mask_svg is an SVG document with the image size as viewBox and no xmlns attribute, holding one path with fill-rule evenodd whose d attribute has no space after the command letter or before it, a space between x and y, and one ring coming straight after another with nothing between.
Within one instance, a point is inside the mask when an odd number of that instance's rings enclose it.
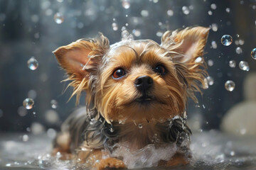
<instances>
[{"instance_id":1,"label":"frothy white water splash in front of the dog's chest between its paws","mask_svg":"<svg viewBox=\"0 0 256 170\"><path fill-rule=\"evenodd\" d=\"M151 144L136 152L130 152L125 144L118 144L115 147L117 149L112 152L111 156L117 158L122 157L128 169L157 166L160 160L169 161L178 150L175 143Z\"/></svg>"}]
</instances>

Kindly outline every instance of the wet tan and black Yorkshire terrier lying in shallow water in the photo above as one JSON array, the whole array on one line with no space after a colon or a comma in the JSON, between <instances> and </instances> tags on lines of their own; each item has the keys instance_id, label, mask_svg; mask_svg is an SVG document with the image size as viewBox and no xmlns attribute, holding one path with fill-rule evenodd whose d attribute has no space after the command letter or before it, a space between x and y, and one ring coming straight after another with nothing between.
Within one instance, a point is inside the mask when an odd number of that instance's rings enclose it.
<instances>
[{"instance_id":1,"label":"wet tan and black Yorkshire terrier lying in shallow water","mask_svg":"<svg viewBox=\"0 0 256 170\"><path fill-rule=\"evenodd\" d=\"M156 166L187 164L191 130L186 106L206 86L203 48L208 32L199 26L166 31L160 45L153 40L110 45L99 33L55 50L68 86L74 88L72 96L78 101L86 92L86 107L63 123L53 153L70 153L94 169L125 169L124 157L112 154L118 147L137 152L174 144L177 152Z\"/></svg>"}]
</instances>

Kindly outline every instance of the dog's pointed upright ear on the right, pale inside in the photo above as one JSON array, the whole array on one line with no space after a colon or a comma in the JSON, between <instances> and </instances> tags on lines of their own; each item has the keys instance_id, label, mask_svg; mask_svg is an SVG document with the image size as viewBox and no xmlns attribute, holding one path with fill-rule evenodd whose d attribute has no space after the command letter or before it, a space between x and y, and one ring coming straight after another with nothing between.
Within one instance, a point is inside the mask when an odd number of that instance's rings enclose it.
<instances>
[{"instance_id":1,"label":"dog's pointed upright ear on the right, pale inside","mask_svg":"<svg viewBox=\"0 0 256 170\"><path fill-rule=\"evenodd\" d=\"M167 31L161 38L161 47L169 50L176 67L178 79L188 86L188 96L193 98L194 91L200 91L198 81L206 87L204 81L207 72L203 60L203 48L206 45L210 28L193 27L183 30Z\"/></svg>"}]
</instances>

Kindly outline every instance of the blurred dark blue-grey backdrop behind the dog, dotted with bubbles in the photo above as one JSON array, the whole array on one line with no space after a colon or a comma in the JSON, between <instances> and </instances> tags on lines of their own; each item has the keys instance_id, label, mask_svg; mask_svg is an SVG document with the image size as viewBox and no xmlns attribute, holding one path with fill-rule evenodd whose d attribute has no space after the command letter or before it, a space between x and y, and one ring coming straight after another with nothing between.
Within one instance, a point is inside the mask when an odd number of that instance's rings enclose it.
<instances>
[{"instance_id":1,"label":"blurred dark blue-grey backdrop behind the dog, dotted with bubbles","mask_svg":"<svg viewBox=\"0 0 256 170\"><path fill-rule=\"evenodd\" d=\"M74 111L75 98L68 102L73 89L60 83L65 72L52 53L57 47L97 32L112 44L121 40L123 27L134 40L160 43L166 30L206 26L208 89L198 104L189 103L189 124L199 132L255 134L255 16L255 0L0 0L0 132L54 135ZM232 36L231 45L221 44L223 35ZM226 89L228 80L235 85ZM26 98L33 108L23 106Z\"/></svg>"}]
</instances>

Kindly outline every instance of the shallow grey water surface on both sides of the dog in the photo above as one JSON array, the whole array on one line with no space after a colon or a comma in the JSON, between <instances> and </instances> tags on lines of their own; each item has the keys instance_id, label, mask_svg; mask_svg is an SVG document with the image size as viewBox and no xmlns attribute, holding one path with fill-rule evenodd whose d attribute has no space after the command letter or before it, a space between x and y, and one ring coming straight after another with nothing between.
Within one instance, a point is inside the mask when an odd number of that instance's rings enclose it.
<instances>
[{"instance_id":1,"label":"shallow grey water surface on both sides of the dog","mask_svg":"<svg viewBox=\"0 0 256 170\"><path fill-rule=\"evenodd\" d=\"M82 169L50 157L46 135L0 134L0 169ZM191 164L153 169L256 169L256 137L235 137L211 130L193 134Z\"/></svg>"}]
</instances>

